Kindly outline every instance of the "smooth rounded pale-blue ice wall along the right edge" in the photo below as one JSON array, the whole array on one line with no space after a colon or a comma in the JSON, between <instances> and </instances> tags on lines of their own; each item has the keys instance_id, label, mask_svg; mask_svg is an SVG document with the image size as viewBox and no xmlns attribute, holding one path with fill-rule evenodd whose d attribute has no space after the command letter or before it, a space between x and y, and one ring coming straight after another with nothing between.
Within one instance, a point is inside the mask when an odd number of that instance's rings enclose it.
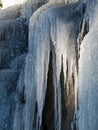
<instances>
[{"instance_id":1,"label":"smooth rounded pale-blue ice wall along the right edge","mask_svg":"<svg viewBox=\"0 0 98 130\"><path fill-rule=\"evenodd\" d=\"M98 129L98 4L88 6L93 15L89 13L90 30L80 49L79 130Z\"/></svg>"}]
</instances>

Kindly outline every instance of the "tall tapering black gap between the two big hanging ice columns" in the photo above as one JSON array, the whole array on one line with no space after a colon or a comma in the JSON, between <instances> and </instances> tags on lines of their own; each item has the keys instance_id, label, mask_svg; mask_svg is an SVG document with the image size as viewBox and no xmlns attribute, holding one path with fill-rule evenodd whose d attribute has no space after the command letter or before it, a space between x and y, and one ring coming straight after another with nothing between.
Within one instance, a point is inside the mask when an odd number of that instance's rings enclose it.
<instances>
[{"instance_id":1,"label":"tall tapering black gap between the two big hanging ice columns","mask_svg":"<svg viewBox=\"0 0 98 130\"><path fill-rule=\"evenodd\" d=\"M52 52L50 52L47 90L42 117L42 130L54 130L54 83L52 59Z\"/></svg>"}]
</instances>

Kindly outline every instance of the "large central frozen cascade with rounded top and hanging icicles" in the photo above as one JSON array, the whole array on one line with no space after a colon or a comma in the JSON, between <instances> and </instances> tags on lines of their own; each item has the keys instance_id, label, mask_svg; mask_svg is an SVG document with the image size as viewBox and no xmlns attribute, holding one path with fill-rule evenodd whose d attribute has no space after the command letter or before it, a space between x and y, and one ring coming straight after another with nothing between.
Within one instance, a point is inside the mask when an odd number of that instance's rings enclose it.
<instances>
[{"instance_id":1,"label":"large central frozen cascade with rounded top and hanging icicles","mask_svg":"<svg viewBox=\"0 0 98 130\"><path fill-rule=\"evenodd\" d=\"M50 51L53 56L54 124L55 130L61 130L62 91L60 74L62 64L64 91L67 91L67 96L70 95L71 85L76 82L74 82L74 78L77 77L76 44L79 23L82 19L81 11L77 10L78 5L79 3L53 6L46 11L42 7L42 12L39 9L30 19L29 53L25 67L27 101L24 112L26 118L25 130L32 130L32 127L35 130L41 129ZM75 26L76 24L77 26Z\"/></svg>"}]
</instances>

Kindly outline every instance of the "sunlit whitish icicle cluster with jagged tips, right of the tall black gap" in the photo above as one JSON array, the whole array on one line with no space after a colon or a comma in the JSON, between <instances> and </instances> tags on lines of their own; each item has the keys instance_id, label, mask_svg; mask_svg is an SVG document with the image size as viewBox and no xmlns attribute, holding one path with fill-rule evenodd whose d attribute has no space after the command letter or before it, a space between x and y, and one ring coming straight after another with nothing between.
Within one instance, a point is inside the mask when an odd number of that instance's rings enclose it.
<instances>
[{"instance_id":1,"label":"sunlit whitish icicle cluster with jagged tips, right of the tall black gap","mask_svg":"<svg viewBox=\"0 0 98 130\"><path fill-rule=\"evenodd\" d=\"M53 11L53 10L52 10ZM66 16L66 15L65 15ZM77 34L72 34L71 30L74 30L74 23L62 22L59 19L59 15L55 12L55 17L51 18L51 38L53 43L53 70L54 70L54 86L55 86L55 129L61 129L61 85L60 85L60 72L63 56L63 69L64 80L66 82L66 70L68 69L68 82L71 80L72 74L77 73L76 69L76 52L75 43ZM61 18L61 17L60 17ZM63 32L63 33L62 33ZM68 60L68 68L67 68ZM75 70L74 70L75 67ZM75 75L77 77L77 75ZM77 81L76 81L77 82ZM76 83L75 83L76 84ZM69 94L69 85L67 87L67 94ZM76 86L77 87L77 86ZM77 93L77 91L76 91ZM77 100L77 99L76 99ZM59 103L59 104L58 104ZM76 103L77 104L77 103Z\"/></svg>"}]
</instances>

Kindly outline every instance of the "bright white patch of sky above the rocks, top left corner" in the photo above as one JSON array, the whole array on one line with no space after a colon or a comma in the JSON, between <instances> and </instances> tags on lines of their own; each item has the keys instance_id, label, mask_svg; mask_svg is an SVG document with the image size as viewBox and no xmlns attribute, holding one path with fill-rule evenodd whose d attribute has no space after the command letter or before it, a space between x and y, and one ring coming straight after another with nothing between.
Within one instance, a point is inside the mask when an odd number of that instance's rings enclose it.
<instances>
[{"instance_id":1,"label":"bright white patch of sky above the rocks, top left corner","mask_svg":"<svg viewBox=\"0 0 98 130\"><path fill-rule=\"evenodd\" d=\"M6 8L11 5L21 4L24 0L2 0L3 8Z\"/></svg>"}]
</instances>

